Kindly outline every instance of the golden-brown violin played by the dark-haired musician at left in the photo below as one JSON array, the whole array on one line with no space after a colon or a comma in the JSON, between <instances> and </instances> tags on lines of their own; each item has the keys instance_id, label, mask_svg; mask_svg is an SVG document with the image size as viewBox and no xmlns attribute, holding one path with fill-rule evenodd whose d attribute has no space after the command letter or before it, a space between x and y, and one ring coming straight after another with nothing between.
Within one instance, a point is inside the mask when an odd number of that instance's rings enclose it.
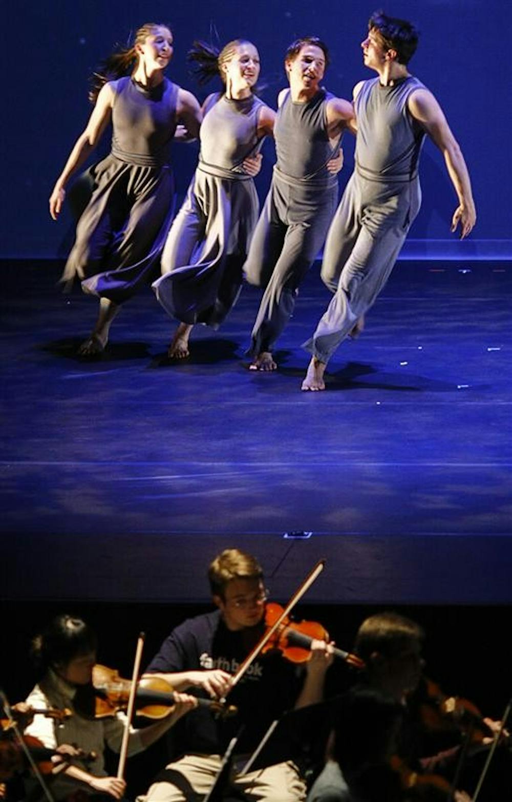
<instances>
[{"instance_id":1,"label":"golden-brown violin played by the dark-haired musician at left","mask_svg":"<svg viewBox=\"0 0 512 802\"><path fill-rule=\"evenodd\" d=\"M87 719L103 719L127 709L132 682L119 676L119 671L96 665L92 670L92 684L79 688L75 695L75 709ZM147 719L163 719L176 704L170 683L151 674L139 679L135 691L137 715ZM198 707L206 707L216 715L228 718L236 715L234 705L214 699L197 699Z\"/></svg>"}]
</instances>

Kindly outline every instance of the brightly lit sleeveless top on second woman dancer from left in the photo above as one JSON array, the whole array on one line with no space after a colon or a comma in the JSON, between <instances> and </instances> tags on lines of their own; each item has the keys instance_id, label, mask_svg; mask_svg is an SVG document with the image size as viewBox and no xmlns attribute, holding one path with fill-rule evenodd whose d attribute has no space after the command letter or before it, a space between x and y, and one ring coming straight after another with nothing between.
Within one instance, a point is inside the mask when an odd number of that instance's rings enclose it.
<instances>
[{"instance_id":1,"label":"brightly lit sleeveless top on second woman dancer from left","mask_svg":"<svg viewBox=\"0 0 512 802\"><path fill-rule=\"evenodd\" d=\"M258 115L264 103L255 95L241 100L212 95L200 130L200 162L203 172L220 178L248 180L242 162L261 147Z\"/></svg>"}]
</instances>

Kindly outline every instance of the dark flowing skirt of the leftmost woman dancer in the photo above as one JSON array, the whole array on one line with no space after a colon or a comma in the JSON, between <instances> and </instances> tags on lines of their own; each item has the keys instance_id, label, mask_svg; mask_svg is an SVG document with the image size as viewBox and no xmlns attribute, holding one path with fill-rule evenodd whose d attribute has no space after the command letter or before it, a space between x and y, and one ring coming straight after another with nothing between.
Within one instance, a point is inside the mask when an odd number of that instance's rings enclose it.
<instances>
[{"instance_id":1,"label":"dark flowing skirt of the leftmost woman dancer","mask_svg":"<svg viewBox=\"0 0 512 802\"><path fill-rule=\"evenodd\" d=\"M112 154L92 175L62 281L78 276L84 292L123 303L158 272L174 215L174 179L167 164L129 164Z\"/></svg>"}]
</instances>

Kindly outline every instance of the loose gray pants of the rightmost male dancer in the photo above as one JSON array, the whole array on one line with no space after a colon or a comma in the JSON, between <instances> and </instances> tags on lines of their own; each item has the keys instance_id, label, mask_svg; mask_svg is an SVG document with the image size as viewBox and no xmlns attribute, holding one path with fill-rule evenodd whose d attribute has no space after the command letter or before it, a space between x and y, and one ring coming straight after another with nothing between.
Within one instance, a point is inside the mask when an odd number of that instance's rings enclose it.
<instances>
[{"instance_id":1,"label":"loose gray pants of the rightmost male dancer","mask_svg":"<svg viewBox=\"0 0 512 802\"><path fill-rule=\"evenodd\" d=\"M303 347L323 363L385 286L421 205L419 180L370 181L356 172L345 188L325 243L321 276L334 293Z\"/></svg>"}]
</instances>

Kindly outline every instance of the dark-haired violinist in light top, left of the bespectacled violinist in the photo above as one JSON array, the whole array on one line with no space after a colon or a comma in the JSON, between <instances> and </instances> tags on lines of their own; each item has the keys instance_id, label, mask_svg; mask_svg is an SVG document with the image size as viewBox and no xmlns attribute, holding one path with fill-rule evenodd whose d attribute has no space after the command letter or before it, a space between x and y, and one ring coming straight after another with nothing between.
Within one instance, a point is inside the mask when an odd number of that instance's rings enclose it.
<instances>
[{"instance_id":1,"label":"dark-haired violinist in light top, left of the bespectacled violinist","mask_svg":"<svg viewBox=\"0 0 512 802\"><path fill-rule=\"evenodd\" d=\"M92 763L74 761L59 772L51 784L55 800L65 800L77 788L94 799L121 799L125 792L124 780L107 776L103 751L108 744L119 751L126 721L119 712L111 718L89 719L77 712L76 702L80 690L90 686L92 669L96 662L98 642L95 632L80 618L58 615L50 626L33 642L33 656L42 678L26 699L34 708L68 707L74 715L61 724L34 715L26 727L26 735L38 738L45 747L56 749L61 744L73 744L97 755ZM170 715L149 727L131 728L128 753L134 755L155 743L182 715L194 707L196 701L187 695L178 695Z\"/></svg>"}]
</instances>

